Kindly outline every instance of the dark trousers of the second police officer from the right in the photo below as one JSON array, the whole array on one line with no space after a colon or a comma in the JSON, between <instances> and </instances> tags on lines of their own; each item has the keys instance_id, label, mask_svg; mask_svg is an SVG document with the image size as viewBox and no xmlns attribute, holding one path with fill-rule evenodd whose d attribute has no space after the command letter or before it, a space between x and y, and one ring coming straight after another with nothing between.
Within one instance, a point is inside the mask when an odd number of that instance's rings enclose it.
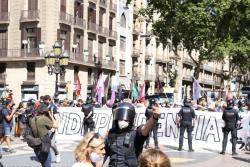
<instances>
[{"instance_id":1,"label":"dark trousers of the second police officer from the right","mask_svg":"<svg viewBox=\"0 0 250 167\"><path fill-rule=\"evenodd\" d=\"M180 125L180 138L179 138L179 148L182 149L183 146L183 138L184 138L184 132L187 130L188 134L188 147L189 150L192 149L192 131L193 131L193 126L192 122L190 121L182 121Z\"/></svg>"}]
</instances>

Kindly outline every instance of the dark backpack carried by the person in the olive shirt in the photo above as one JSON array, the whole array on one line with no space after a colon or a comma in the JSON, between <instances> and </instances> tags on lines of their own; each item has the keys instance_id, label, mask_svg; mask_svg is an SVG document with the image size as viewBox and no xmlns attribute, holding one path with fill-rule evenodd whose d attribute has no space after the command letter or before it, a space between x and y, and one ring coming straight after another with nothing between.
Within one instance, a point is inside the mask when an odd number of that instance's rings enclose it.
<instances>
[{"instance_id":1,"label":"dark backpack carried by the person in the olive shirt","mask_svg":"<svg viewBox=\"0 0 250 167\"><path fill-rule=\"evenodd\" d=\"M37 121L37 117L35 117L35 124L36 124L36 128L37 128L36 121ZM36 130L37 130L37 132L38 132L37 134L39 136L38 128ZM34 136L32 128L30 126L30 121L29 121L29 123L26 125L23 137L26 140L28 146L34 149L34 152L35 152L39 162L42 162L42 163L45 162L47 160L48 155L49 155L50 146L51 146L50 135L47 134L41 138Z\"/></svg>"}]
</instances>

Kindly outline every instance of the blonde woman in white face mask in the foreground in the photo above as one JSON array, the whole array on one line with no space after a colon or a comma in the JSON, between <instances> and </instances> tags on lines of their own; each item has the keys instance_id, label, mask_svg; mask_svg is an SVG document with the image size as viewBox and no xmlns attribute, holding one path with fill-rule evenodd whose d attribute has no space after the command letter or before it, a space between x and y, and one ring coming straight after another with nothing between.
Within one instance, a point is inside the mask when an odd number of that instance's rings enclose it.
<instances>
[{"instance_id":1,"label":"blonde woman in white face mask in the foreground","mask_svg":"<svg viewBox=\"0 0 250 167\"><path fill-rule=\"evenodd\" d=\"M101 167L104 148L104 139L98 133L87 133L75 149L77 162L72 167Z\"/></svg>"}]
</instances>

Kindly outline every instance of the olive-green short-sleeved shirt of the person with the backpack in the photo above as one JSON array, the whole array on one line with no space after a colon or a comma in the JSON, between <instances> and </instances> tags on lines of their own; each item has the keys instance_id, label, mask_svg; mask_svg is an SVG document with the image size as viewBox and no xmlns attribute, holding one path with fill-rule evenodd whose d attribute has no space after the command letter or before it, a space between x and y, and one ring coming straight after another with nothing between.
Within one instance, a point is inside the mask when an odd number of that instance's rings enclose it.
<instances>
[{"instance_id":1,"label":"olive-green short-sleeved shirt of the person with the backpack","mask_svg":"<svg viewBox=\"0 0 250 167\"><path fill-rule=\"evenodd\" d=\"M49 130L53 126L52 120L44 115L32 118L30 124L34 136L39 136L39 137L43 137L46 134L48 134Z\"/></svg>"}]
</instances>

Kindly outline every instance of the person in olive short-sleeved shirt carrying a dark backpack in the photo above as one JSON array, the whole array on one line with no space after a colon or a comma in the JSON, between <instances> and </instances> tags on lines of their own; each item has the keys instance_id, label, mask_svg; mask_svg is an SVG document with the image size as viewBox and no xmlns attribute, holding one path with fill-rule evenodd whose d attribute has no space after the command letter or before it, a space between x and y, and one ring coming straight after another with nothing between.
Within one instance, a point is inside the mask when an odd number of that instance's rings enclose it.
<instances>
[{"instance_id":1,"label":"person in olive short-sleeved shirt carrying a dark backpack","mask_svg":"<svg viewBox=\"0 0 250 167\"><path fill-rule=\"evenodd\" d=\"M54 119L52 111L50 111L45 104L41 104L41 106L38 108L38 115L31 119L30 126L35 137L43 138L47 134L51 135L50 130L52 128L58 128L58 122ZM39 155L37 154L36 150L34 151L36 153L36 156L38 157ZM50 152L47 155L46 161L40 161L40 163L45 167L51 166Z\"/></svg>"}]
</instances>

